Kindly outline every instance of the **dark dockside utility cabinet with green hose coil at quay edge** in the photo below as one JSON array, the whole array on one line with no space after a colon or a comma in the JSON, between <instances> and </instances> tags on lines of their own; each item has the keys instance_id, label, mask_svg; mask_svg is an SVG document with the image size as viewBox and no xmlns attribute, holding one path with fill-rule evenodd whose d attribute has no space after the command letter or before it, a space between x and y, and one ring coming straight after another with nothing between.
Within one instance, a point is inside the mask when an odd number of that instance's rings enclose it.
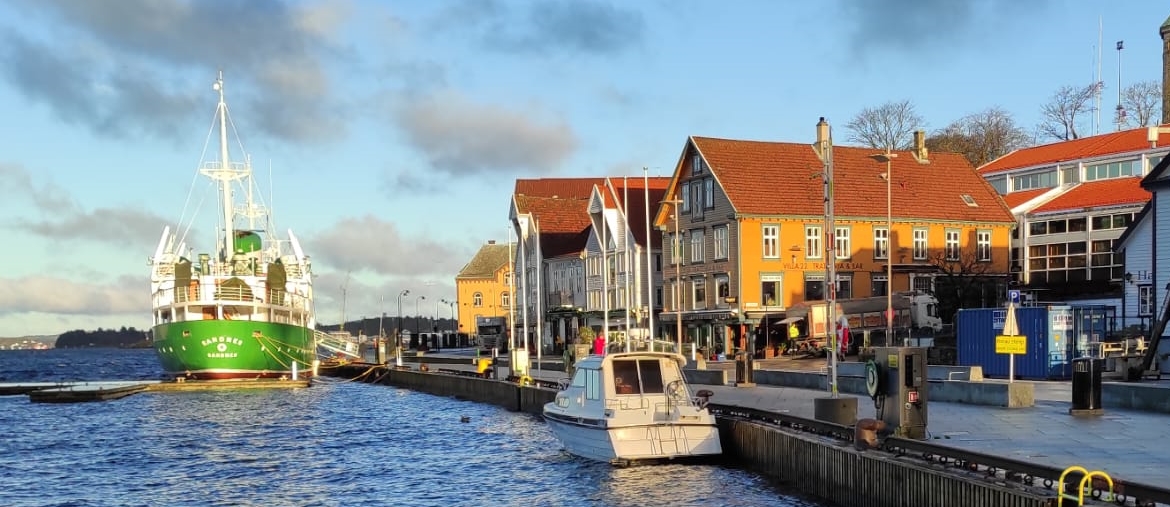
<instances>
[{"instance_id":1,"label":"dark dockside utility cabinet with green hose coil at quay edge","mask_svg":"<svg viewBox=\"0 0 1170 507\"><path fill-rule=\"evenodd\" d=\"M927 349L922 347L875 347L867 363L866 388L874 398L875 419L903 438L927 438Z\"/></svg>"}]
</instances>

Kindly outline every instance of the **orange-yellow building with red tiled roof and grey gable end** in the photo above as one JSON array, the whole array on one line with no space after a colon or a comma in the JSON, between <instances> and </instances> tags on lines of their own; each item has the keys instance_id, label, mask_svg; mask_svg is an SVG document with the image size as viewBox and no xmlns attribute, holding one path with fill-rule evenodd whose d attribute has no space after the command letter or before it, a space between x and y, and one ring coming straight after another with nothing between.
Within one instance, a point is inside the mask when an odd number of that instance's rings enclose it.
<instances>
[{"instance_id":1,"label":"orange-yellow building with red tiled roof and grey gable end","mask_svg":"<svg viewBox=\"0 0 1170 507\"><path fill-rule=\"evenodd\" d=\"M1016 221L966 159L929 155L921 132L915 149L888 158L832 148L835 220L826 234L818 146L831 142L827 124L818 126L815 144L687 139L655 218L672 252L665 331L674 334L677 315L684 341L729 348L725 337L757 334L792 304L825 299L830 242L838 300L913 289L956 307L1005 295Z\"/></svg>"}]
</instances>

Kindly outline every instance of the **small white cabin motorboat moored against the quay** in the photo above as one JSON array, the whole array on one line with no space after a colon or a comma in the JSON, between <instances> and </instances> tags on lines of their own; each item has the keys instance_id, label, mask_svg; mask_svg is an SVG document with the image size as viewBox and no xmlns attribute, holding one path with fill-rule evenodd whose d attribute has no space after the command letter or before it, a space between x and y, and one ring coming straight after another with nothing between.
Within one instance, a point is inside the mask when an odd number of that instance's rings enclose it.
<instances>
[{"instance_id":1,"label":"small white cabin motorboat moored against the quay","mask_svg":"<svg viewBox=\"0 0 1170 507\"><path fill-rule=\"evenodd\" d=\"M691 395L687 358L673 352L618 352L577 363L572 382L544 405L565 451L625 465L721 454L708 390Z\"/></svg>"}]
</instances>

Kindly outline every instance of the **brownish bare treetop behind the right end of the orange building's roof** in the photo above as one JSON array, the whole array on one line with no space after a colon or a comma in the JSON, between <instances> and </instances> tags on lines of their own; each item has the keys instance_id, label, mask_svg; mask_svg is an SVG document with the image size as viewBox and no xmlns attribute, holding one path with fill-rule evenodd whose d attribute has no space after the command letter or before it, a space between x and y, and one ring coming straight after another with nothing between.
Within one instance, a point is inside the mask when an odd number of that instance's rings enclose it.
<instances>
[{"instance_id":1,"label":"brownish bare treetop behind the right end of the orange building's roof","mask_svg":"<svg viewBox=\"0 0 1170 507\"><path fill-rule=\"evenodd\" d=\"M976 167L1033 143L1012 115L999 108L964 116L927 138L931 151L962 153Z\"/></svg>"}]
</instances>

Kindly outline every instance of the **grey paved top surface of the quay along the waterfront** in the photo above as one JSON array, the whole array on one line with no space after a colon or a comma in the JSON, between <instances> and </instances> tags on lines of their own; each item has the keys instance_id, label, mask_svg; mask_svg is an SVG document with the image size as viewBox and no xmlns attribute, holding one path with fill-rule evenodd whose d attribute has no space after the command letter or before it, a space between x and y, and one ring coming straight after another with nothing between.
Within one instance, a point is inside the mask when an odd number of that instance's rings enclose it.
<instances>
[{"instance_id":1,"label":"grey paved top surface of the quay along the waterfront","mask_svg":"<svg viewBox=\"0 0 1170 507\"><path fill-rule=\"evenodd\" d=\"M543 381L567 381L565 372L560 371L563 365L559 361L546 361L550 362L542 364L541 369L534 365L529 375ZM803 363L811 370L824 366L824 361L798 359L790 363ZM439 368L474 371L469 358L462 364L456 361ZM760 384L759 375L769 370L755 371L757 381L755 386L737 388L734 385L734 363L709 362L707 368L706 372L688 370L688 376L706 374L721 379L722 382L716 381L702 386L715 392L711 403L720 405L811 419L813 400L830 396L824 389ZM847 368L849 366L839 368L839 374ZM501 368L501 372L507 376L507 368ZM990 379L983 382L1007 383ZM691 383L697 384L694 379ZM1166 472L1170 470L1170 414L1114 409L1109 403L1104 403L1104 413L1101 416L1071 416L1069 382L1017 381L1016 384L1027 384L1034 389L1035 403L1032 406L1002 407L937 402L931 393L927 426L930 443L1057 468L1076 465L1090 471L1103 471L1114 480L1164 487L1166 479L1170 478ZM1170 382L1166 381L1131 385L1156 389L1163 395L1170 395ZM934 388L931 383L931 389ZM693 385L693 389L696 388ZM1104 385L1102 390L1104 391ZM858 398L859 418L876 414L874 403L868 396L840 393L839 397Z\"/></svg>"}]
</instances>

